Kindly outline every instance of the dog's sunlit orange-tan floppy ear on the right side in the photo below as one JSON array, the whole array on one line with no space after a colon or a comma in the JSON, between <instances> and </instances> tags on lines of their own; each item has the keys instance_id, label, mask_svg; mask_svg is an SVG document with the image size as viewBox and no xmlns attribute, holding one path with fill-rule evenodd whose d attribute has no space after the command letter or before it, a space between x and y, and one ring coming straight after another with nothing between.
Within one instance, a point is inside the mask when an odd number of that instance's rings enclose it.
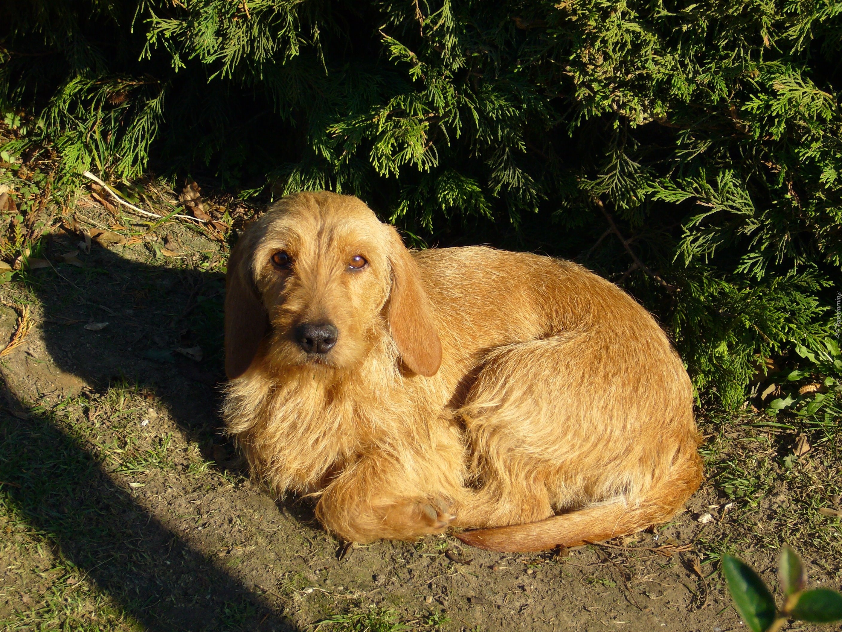
<instances>
[{"instance_id":1,"label":"dog's sunlit orange-tan floppy ear on the right side","mask_svg":"<svg viewBox=\"0 0 842 632\"><path fill-rule=\"evenodd\" d=\"M433 310L419 280L418 264L403 245L397 230L389 231L392 292L388 319L403 363L418 375L431 377L441 366L441 340L435 329Z\"/></svg>"}]
</instances>

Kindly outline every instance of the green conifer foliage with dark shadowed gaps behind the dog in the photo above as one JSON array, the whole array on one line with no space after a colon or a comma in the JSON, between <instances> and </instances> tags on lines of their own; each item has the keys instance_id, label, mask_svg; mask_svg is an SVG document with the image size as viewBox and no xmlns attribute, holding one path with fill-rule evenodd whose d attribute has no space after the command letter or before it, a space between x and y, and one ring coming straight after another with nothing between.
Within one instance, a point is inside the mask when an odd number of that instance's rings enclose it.
<instances>
[{"instance_id":1,"label":"green conifer foliage with dark shadowed gaps behind the dog","mask_svg":"<svg viewBox=\"0 0 842 632\"><path fill-rule=\"evenodd\" d=\"M0 105L38 116L67 174L325 188L416 240L575 258L652 308L726 406L766 358L836 335L842 2L2 12Z\"/></svg>"}]
</instances>

